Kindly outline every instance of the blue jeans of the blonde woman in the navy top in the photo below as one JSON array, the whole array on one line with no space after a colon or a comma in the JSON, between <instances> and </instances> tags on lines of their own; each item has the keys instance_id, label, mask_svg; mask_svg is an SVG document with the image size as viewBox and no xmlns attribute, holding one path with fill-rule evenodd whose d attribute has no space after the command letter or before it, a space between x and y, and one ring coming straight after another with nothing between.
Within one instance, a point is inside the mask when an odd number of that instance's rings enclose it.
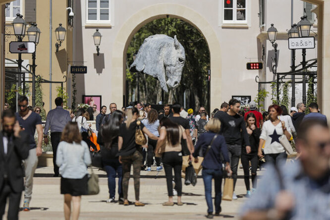
<instances>
[{"instance_id":1,"label":"blue jeans of the blonde woman in the navy top","mask_svg":"<svg viewBox=\"0 0 330 220\"><path fill-rule=\"evenodd\" d=\"M214 179L214 188L216 191L214 205L216 213L220 213L221 204L221 181L222 170L221 169L204 169L202 170L202 176L205 187L205 199L208 205L208 213L213 213L212 205L212 179Z\"/></svg>"}]
</instances>

